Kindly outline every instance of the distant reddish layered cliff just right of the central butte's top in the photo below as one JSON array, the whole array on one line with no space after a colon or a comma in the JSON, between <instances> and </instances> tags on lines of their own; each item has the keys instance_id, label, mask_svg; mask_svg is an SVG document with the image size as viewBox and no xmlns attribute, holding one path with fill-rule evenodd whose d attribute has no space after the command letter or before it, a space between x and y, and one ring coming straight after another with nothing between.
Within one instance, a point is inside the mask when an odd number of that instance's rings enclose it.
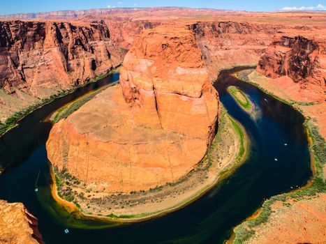
<instances>
[{"instance_id":1,"label":"distant reddish layered cliff just right of the central butte's top","mask_svg":"<svg viewBox=\"0 0 326 244\"><path fill-rule=\"evenodd\" d=\"M203 59L216 79L221 69L255 66L282 26L224 21L197 22L188 28L195 31Z\"/></svg>"}]
</instances>

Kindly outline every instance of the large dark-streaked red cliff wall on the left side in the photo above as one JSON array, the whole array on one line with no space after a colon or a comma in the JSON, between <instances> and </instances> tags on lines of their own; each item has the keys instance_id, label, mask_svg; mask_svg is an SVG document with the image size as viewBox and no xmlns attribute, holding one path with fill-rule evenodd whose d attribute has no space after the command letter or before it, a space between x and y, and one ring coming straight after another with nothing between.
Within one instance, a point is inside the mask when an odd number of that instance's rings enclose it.
<instances>
[{"instance_id":1,"label":"large dark-streaked red cliff wall on the left side","mask_svg":"<svg viewBox=\"0 0 326 244\"><path fill-rule=\"evenodd\" d=\"M0 22L0 119L117 66L103 21Z\"/></svg>"}]
</instances>

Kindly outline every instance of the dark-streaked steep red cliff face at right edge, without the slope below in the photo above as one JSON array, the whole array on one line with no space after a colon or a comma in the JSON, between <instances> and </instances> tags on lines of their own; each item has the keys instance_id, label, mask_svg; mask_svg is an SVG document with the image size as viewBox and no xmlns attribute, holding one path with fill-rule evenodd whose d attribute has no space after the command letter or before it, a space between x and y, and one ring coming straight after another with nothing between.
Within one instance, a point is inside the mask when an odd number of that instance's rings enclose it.
<instances>
[{"instance_id":1,"label":"dark-streaked steep red cliff face at right edge, without the slope below","mask_svg":"<svg viewBox=\"0 0 326 244\"><path fill-rule=\"evenodd\" d=\"M313 83L325 89L325 40L303 36L277 38L261 56L257 71L273 79L288 76L294 82Z\"/></svg>"}]
</instances>

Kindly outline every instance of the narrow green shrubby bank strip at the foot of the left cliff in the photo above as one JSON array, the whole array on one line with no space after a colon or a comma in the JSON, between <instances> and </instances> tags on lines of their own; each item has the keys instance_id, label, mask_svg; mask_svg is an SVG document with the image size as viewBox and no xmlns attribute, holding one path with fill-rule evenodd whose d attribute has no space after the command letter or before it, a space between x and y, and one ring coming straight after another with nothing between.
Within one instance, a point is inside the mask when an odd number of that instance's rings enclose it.
<instances>
[{"instance_id":1,"label":"narrow green shrubby bank strip at the foot of the left cliff","mask_svg":"<svg viewBox=\"0 0 326 244\"><path fill-rule=\"evenodd\" d=\"M78 85L78 86L73 86L70 89L61 90L58 93L52 94L48 98L43 98L42 100L39 100L38 102L32 103L31 105L29 105L29 107L26 107L26 108L20 110L19 112L16 112L15 114L10 116L9 118L7 118L6 121L4 121L4 122L0 121L0 137L2 135L6 134L6 132L8 132L11 129L15 128L18 125L18 123L22 119L24 119L24 117L31 114L31 112L34 112L36 109L40 109L44 105L49 104L50 102L54 101L57 98L61 98L63 96L71 94L71 93L73 93L74 91L76 91L77 89L79 89L81 87L84 87L84 86L87 86L88 84L97 82L100 79L103 79L105 77L108 77L109 75L112 75L112 74L118 72L120 66L121 65L112 68L108 73L106 73L104 75L98 75L98 76L94 77L94 79L91 79L89 82L85 82L84 84L81 84L81 85Z\"/></svg>"}]
</instances>

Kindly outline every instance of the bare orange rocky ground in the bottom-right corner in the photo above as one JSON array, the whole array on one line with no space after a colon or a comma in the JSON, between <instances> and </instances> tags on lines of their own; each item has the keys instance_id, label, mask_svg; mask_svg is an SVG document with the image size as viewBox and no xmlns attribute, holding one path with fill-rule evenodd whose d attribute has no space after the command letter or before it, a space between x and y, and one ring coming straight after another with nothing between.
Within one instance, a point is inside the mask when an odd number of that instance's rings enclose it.
<instances>
[{"instance_id":1,"label":"bare orange rocky ground in the bottom-right corner","mask_svg":"<svg viewBox=\"0 0 326 244\"><path fill-rule=\"evenodd\" d=\"M277 201L267 223L255 227L255 235L245 243L325 243L326 195L301 201Z\"/></svg>"}]
</instances>

